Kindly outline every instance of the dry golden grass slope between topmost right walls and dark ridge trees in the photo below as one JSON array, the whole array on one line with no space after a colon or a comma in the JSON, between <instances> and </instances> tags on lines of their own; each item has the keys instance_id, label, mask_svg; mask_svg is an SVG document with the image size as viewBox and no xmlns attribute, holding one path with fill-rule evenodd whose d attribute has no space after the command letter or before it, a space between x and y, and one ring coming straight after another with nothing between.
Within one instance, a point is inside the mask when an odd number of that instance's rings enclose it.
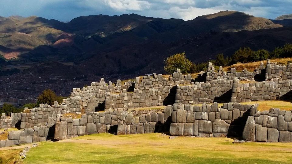
<instances>
[{"instance_id":1,"label":"dry golden grass slope between topmost right walls and dark ridge trees","mask_svg":"<svg viewBox=\"0 0 292 164\"><path fill-rule=\"evenodd\" d=\"M278 64L288 64L291 61L292 61L292 58L280 58L280 59L271 60L271 62L273 63L277 62ZM228 67L224 67L223 70L230 71L230 68L236 68L236 70L243 70L244 68L246 68L248 71L254 71L257 67L259 67L261 62L264 62L264 65L266 66L267 60L263 60L263 61L251 62L251 63L237 63Z\"/></svg>"}]
</instances>

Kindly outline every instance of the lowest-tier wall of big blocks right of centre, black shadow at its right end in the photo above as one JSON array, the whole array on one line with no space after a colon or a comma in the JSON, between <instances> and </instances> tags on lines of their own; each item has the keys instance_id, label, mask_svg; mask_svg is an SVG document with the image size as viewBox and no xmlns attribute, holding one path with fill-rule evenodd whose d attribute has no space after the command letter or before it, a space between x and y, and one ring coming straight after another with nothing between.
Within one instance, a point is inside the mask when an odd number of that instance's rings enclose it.
<instances>
[{"instance_id":1,"label":"lowest-tier wall of big blocks right of centre, black shadow at its right end","mask_svg":"<svg viewBox=\"0 0 292 164\"><path fill-rule=\"evenodd\" d=\"M251 105L239 103L174 104L170 135L224 137L241 136Z\"/></svg>"}]
</instances>

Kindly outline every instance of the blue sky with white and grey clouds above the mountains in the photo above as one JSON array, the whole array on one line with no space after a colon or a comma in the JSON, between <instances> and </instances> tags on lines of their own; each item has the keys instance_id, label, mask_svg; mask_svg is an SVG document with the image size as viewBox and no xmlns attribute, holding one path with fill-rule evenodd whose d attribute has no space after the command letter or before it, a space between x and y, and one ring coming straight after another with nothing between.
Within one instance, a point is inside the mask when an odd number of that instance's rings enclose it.
<instances>
[{"instance_id":1,"label":"blue sky with white and grey clouds above the mountains","mask_svg":"<svg viewBox=\"0 0 292 164\"><path fill-rule=\"evenodd\" d=\"M82 15L131 13L190 20L225 10L275 19L292 14L292 0L0 0L0 16L35 15L63 22Z\"/></svg>"}]
</instances>

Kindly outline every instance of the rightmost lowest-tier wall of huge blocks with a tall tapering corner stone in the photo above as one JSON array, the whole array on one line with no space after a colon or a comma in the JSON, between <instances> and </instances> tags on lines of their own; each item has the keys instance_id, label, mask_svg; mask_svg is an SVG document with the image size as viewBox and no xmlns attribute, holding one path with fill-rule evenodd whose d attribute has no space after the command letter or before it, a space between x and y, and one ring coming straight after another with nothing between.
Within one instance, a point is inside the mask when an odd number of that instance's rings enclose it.
<instances>
[{"instance_id":1,"label":"rightmost lowest-tier wall of huge blocks with a tall tapering corner stone","mask_svg":"<svg viewBox=\"0 0 292 164\"><path fill-rule=\"evenodd\" d=\"M292 142L292 113L271 108L269 111L250 110L242 138L255 142Z\"/></svg>"}]
</instances>

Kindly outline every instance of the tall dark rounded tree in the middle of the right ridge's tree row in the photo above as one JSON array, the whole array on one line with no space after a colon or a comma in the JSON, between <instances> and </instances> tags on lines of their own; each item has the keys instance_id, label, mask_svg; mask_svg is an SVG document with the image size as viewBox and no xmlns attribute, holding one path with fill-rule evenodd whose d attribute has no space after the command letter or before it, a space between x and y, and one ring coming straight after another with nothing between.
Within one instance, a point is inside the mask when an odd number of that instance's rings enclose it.
<instances>
[{"instance_id":1,"label":"tall dark rounded tree in the middle of the right ridge's tree row","mask_svg":"<svg viewBox=\"0 0 292 164\"><path fill-rule=\"evenodd\" d=\"M254 51L249 47L240 47L239 50L231 56L233 63L248 63L249 58L254 54Z\"/></svg>"}]
</instances>

